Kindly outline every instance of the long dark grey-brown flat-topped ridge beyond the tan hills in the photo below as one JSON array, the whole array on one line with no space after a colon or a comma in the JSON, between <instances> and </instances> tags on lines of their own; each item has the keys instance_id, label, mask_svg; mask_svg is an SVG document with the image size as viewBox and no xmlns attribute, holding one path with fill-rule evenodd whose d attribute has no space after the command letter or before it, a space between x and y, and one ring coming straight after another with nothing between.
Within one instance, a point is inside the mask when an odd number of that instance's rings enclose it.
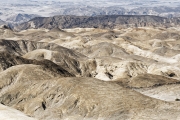
<instances>
[{"instance_id":1,"label":"long dark grey-brown flat-topped ridge beyond the tan hills","mask_svg":"<svg viewBox=\"0 0 180 120\"><path fill-rule=\"evenodd\" d=\"M29 28L127 28L127 27L173 27L179 18L164 18L149 15L102 15L102 16L54 16L37 17L14 27L15 30Z\"/></svg>"}]
</instances>

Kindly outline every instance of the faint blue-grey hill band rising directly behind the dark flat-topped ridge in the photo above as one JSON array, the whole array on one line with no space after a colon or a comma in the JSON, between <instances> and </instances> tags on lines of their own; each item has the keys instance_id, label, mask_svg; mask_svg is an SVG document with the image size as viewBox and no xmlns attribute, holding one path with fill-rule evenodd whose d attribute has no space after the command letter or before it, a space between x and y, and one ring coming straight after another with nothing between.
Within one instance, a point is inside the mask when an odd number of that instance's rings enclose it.
<instances>
[{"instance_id":1,"label":"faint blue-grey hill band rising directly behind the dark flat-topped ridge","mask_svg":"<svg viewBox=\"0 0 180 120\"><path fill-rule=\"evenodd\" d=\"M120 6L110 7L92 7L84 6L80 9L77 7L66 8L58 12L52 12L53 15L78 15L78 16L96 16L96 15L155 15L161 17L180 17L179 7L137 7L128 9Z\"/></svg>"}]
</instances>

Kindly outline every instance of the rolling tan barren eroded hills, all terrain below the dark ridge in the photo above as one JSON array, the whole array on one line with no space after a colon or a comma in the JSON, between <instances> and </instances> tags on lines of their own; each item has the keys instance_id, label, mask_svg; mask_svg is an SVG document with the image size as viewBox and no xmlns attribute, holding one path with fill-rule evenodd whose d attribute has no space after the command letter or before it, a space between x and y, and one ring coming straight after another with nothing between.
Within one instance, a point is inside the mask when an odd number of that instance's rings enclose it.
<instances>
[{"instance_id":1,"label":"rolling tan barren eroded hills, all terrain below the dark ridge","mask_svg":"<svg viewBox=\"0 0 180 120\"><path fill-rule=\"evenodd\" d=\"M1 26L0 103L40 120L179 120L179 32Z\"/></svg>"}]
</instances>

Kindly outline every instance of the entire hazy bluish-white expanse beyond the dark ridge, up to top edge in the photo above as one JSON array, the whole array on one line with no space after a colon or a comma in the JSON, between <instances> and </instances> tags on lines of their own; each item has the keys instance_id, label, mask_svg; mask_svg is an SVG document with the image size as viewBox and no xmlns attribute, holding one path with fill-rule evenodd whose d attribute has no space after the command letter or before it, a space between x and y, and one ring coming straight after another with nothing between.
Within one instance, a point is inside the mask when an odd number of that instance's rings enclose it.
<instances>
[{"instance_id":1,"label":"entire hazy bluish-white expanse beyond the dark ridge, up to top edge","mask_svg":"<svg viewBox=\"0 0 180 120\"><path fill-rule=\"evenodd\" d=\"M0 4L0 19L11 24L27 22L38 16L56 15L154 15L180 17L180 2L175 0L7 0Z\"/></svg>"}]
</instances>

